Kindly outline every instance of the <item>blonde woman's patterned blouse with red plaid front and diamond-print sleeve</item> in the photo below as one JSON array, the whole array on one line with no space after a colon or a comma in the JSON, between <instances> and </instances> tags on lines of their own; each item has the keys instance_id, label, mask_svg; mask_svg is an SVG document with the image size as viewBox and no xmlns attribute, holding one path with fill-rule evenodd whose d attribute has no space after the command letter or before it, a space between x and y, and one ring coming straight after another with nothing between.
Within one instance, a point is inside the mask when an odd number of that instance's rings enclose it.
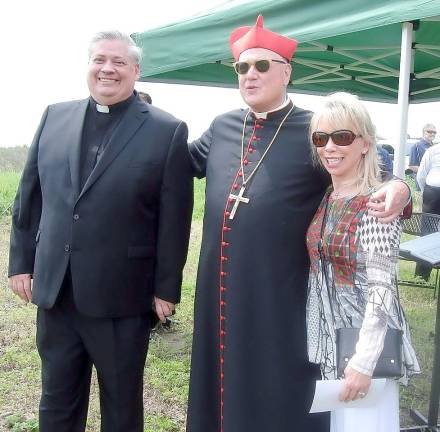
<instances>
[{"instance_id":1,"label":"blonde woman's patterned blouse with red plaid front and diamond-print sleeve","mask_svg":"<svg viewBox=\"0 0 440 432\"><path fill-rule=\"evenodd\" d=\"M329 190L324 196L307 232L311 262L307 301L309 360L321 365L323 379L335 379L334 328L360 328L356 353L348 364L371 376L388 326L403 330L404 377L418 373L419 364L396 290L400 220L383 224L368 215L368 196L331 199L330 193ZM318 250L321 237L322 260ZM323 265L327 267L329 290Z\"/></svg>"}]
</instances>

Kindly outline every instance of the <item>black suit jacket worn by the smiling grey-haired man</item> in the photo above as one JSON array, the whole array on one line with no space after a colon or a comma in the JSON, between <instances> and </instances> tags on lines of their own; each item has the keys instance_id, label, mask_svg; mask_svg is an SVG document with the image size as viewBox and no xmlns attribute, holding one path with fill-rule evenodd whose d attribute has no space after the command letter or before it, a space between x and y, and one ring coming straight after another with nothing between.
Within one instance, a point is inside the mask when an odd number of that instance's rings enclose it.
<instances>
[{"instance_id":1,"label":"black suit jacket worn by the smiling grey-haired man","mask_svg":"<svg viewBox=\"0 0 440 432\"><path fill-rule=\"evenodd\" d=\"M137 97L80 190L88 99L49 106L15 199L9 275L33 275L32 301L53 306L70 262L80 312L146 313L176 303L193 203L186 124Z\"/></svg>"}]
</instances>

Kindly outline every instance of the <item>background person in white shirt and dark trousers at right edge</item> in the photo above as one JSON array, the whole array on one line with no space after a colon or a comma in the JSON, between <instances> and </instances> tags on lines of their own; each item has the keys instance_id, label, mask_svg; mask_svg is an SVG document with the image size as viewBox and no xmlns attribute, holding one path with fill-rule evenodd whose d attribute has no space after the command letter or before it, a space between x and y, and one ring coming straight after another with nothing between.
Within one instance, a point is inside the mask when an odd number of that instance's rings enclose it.
<instances>
[{"instance_id":1,"label":"background person in white shirt and dark trousers at right edge","mask_svg":"<svg viewBox=\"0 0 440 432\"><path fill-rule=\"evenodd\" d=\"M423 213L440 215L440 144L428 148L423 155L417 171L417 183L422 190ZM422 235L430 234L430 232L424 226L422 219ZM415 274L428 281L431 266L417 263Z\"/></svg>"}]
</instances>

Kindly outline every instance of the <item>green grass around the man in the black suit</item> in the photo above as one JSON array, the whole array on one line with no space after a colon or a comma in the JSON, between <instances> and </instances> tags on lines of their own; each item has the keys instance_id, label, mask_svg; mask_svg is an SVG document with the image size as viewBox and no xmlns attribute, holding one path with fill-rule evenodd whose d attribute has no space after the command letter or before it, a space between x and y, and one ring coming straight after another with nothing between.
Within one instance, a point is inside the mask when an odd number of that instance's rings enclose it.
<instances>
[{"instance_id":1,"label":"green grass around the man in the black suit","mask_svg":"<svg viewBox=\"0 0 440 432\"><path fill-rule=\"evenodd\" d=\"M8 289L7 260L10 232L9 204L20 174L0 173L0 431L38 431L40 361L35 348L34 306L26 306ZM169 332L150 342L145 373L145 431L181 432L185 428L190 368L195 277L204 206L204 180L195 180L191 245L184 271L182 302ZM5 211L6 210L6 211ZM100 425L98 384L92 378L87 431Z\"/></svg>"}]
</instances>

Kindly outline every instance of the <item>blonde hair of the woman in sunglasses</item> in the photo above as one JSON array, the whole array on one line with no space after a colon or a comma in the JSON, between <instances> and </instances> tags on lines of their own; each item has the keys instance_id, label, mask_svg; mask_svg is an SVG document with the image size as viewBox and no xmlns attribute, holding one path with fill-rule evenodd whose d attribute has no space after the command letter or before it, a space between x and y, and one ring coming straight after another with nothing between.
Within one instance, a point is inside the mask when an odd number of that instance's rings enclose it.
<instances>
[{"instance_id":1,"label":"blonde hair of the woman in sunglasses","mask_svg":"<svg viewBox=\"0 0 440 432\"><path fill-rule=\"evenodd\" d=\"M321 165L316 147L312 143L312 133L318 130L321 120L325 120L336 129L351 129L361 135L368 144L368 151L359 163L359 178L356 182L357 193L367 194L380 184L380 170L377 158L376 128L367 109L359 98L350 93L338 92L328 95L324 105L315 112L310 122L310 144L313 160Z\"/></svg>"}]
</instances>

